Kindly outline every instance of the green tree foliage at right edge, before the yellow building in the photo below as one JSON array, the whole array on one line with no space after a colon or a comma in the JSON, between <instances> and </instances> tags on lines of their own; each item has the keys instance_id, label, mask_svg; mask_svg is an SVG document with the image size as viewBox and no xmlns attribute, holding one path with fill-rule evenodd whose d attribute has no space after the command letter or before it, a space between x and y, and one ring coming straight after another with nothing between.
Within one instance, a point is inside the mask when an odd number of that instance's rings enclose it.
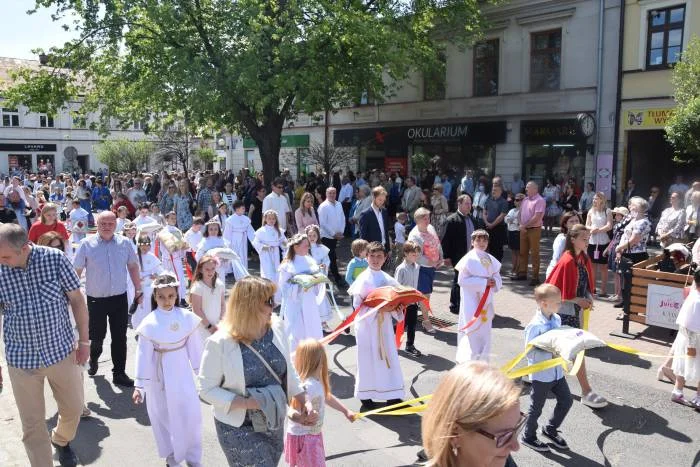
<instances>
[{"instance_id":1,"label":"green tree foliage at right edge, before the yellow building","mask_svg":"<svg viewBox=\"0 0 700 467\"><path fill-rule=\"evenodd\" d=\"M700 159L700 38L693 36L673 69L676 110L666 125L666 138L678 162Z\"/></svg>"}]
</instances>

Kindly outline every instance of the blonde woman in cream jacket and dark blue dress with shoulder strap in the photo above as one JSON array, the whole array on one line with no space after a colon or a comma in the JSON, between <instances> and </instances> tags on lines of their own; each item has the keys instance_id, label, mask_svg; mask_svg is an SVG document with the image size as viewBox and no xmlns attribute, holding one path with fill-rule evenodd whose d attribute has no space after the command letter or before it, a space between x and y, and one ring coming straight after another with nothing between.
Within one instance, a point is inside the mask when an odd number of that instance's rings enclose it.
<instances>
[{"instance_id":1,"label":"blonde woman in cream jacket and dark blue dress with shoulder strap","mask_svg":"<svg viewBox=\"0 0 700 467\"><path fill-rule=\"evenodd\" d=\"M284 324L272 314L276 288L255 276L236 282L219 330L207 339L202 355L199 396L214 408L229 466L279 463L288 398L303 407L301 424L312 426L318 420L290 359ZM259 401L265 400L261 410Z\"/></svg>"}]
</instances>

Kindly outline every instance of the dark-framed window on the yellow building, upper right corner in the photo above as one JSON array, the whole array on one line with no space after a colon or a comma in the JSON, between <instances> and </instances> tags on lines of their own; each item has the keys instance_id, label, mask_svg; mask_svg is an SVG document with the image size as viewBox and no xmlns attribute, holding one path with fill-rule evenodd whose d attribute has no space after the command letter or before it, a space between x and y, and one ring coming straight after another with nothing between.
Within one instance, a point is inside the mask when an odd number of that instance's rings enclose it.
<instances>
[{"instance_id":1,"label":"dark-framed window on the yellow building, upper right corner","mask_svg":"<svg viewBox=\"0 0 700 467\"><path fill-rule=\"evenodd\" d=\"M648 69L666 68L681 57L685 5L649 10L647 17Z\"/></svg>"}]
</instances>

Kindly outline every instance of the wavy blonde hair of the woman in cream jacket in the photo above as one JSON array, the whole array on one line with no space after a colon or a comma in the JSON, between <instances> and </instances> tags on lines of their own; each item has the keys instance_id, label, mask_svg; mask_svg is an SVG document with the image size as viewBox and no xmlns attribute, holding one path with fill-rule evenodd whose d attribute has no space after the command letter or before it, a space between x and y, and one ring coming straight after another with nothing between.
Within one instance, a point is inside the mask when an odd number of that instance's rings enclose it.
<instances>
[{"instance_id":1,"label":"wavy blonde hair of the woman in cream jacket","mask_svg":"<svg viewBox=\"0 0 700 467\"><path fill-rule=\"evenodd\" d=\"M275 290L275 283L262 277L247 276L236 282L231 288L219 328L237 341L254 341L261 328L270 327L270 321L260 312L260 307L275 296Z\"/></svg>"}]
</instances>

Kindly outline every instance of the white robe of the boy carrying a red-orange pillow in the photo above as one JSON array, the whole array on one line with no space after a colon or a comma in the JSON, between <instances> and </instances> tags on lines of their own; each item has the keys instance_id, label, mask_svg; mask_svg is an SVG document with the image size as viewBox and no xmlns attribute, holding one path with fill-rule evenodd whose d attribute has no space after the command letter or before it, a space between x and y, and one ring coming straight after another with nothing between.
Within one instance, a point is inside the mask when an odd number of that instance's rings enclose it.
<instances>
[{"instance_id":1,"label":"white robe of the boy carrying a red-orange pillow","mask_svg":"<svg viewBox=\"0 0 700 467\"><path fill-rule=\"evenodd\" d=\"M399 283L384 271L366 269L357 276L348 289L352 296L353 308L377 287L398 286ZM368 314L372 309L363 306L357 319ZM364 399L403 399L405 397L403 374L399 364L399 352L392 318L403 320L403 313L376 311L374 316L355 324L357 341L357 375L355 378L355 397ZM384 349L382 356L381 349Z\"/></svg>"}]
</instances>

